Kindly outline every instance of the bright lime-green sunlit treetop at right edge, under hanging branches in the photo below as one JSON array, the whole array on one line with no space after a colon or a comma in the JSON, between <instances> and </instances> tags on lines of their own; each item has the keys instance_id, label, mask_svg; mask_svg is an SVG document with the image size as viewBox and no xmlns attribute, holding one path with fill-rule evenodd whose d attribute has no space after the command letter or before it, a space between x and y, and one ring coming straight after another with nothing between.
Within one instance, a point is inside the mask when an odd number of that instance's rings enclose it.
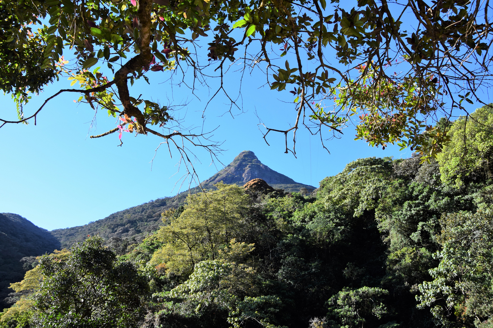
<instances>
[{"instance_id":1,"label":"bright lime-green sunlit treetop at right edge, under hanging branches","mask_svg":"<svg viewBox=\"0 0 493 328\"><path fill-rule=\"evenodd\" d=\"M493 106L478 108L454 122L452 143L438 155L441 179L464 183L493 179Z\"/></svg>"}]
</instances>

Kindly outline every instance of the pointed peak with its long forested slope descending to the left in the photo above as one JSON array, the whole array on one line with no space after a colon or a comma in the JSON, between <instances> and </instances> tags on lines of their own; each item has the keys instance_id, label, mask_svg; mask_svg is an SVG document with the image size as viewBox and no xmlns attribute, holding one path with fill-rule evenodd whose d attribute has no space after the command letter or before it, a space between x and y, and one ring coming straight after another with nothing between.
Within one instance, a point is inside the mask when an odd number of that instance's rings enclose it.
<instances>
[{"instance_id":1,"label":"pointed peak with its long forested slope descending to the left","mask_svg":"<svg viewBox=\"0 0 493 328\"><path fill-rule=\"evenodd\" d=\"M244 185L251 179L264 179L276 189L286 192L300 191L302 188L315 189L314 186L298 183L285 175L270 169L255 156L253 151L242 151L235 159L211 178L202 182L204 189L214 188L213 184L223 181L227 184ZM150 232L156 231L161 222L161 213L166 209L177 208L183 205L189 192L200 191L194 188L184 191L175 197L166 197L148 203L124 209L107 216L104 219L88 223L83 226L57 229L51 234L57 238L62 247L70 247L73 243L84 240L87 235L99 234L105 239L117 237L121 239L135 238L141 241Z\"/></svg>"}]
</instances>

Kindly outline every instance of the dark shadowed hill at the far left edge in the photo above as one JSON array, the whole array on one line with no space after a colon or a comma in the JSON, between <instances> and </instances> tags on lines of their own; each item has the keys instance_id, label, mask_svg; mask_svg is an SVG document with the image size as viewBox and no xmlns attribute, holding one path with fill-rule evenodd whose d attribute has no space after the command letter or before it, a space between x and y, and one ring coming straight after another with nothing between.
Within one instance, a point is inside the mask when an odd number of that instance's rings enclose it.
<instances>
[{"instance_id":1,"label":"dark shadowed hill at the far left edge","mask_svg":"<svg viewBox=\"0 0 493 328\"><path fill-rule=\"evenodd\" d=\"M33 257L60 248L60 242L47 230L20 215L0 213L0 311L10 306L4 300L13 292L10 283L21 281L33 268Z\"/></svg>"}]
</instances>

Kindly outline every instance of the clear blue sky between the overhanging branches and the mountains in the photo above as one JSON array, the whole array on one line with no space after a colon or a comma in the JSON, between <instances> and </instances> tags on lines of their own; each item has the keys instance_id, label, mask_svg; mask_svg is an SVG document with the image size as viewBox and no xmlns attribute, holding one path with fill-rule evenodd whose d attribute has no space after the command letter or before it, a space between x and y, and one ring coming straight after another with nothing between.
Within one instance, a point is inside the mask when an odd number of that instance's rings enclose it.
<instances>
[{"instance_id":1,"label":"clear blue sky between the overhanging branches and the mountains","mask_svg":"<svg viewBox=\"0 0 493 328\"><path fill-rule=\"evenodd\" d=\"M163 104L189 103L177 115L186 125L201 125L202 111L214 89L199 87L191 95L186 87L173 87L166 80L169 73L149 72L151 85L139 81L131 89L132 95L160 99ZM233 73L225 80L228 90L236 90L240 77ZM354 130L344 130L339 140L326 142L330 154L322 149L319 136L310 137L301 129L297 137L297 158L285 154L282 135L269 134L270 146L262 139L258 118L267 124L285 128L294 121L292 96L287 91L271 91L262 87L265 76L254 73L243 79L242 103L244 113L232 118L223 115L229 106L224 96L215 98L206 111L205 130L217 127L212 137L224 141L224 151L219 159L227 165L242 150L253 151L259 160L295 181L318 186L321 179L335 175L352 160L368 156L409 157L409 149L399 151L398 146L385 149L368 147L354 141ZM56 91L67 88L68 82L48 86L26 106L30 114ZM217 87L217 81L211 82ZM20 214L37 226L52 230L83 225L122 209L140 205L160 197L173 196L183 191L175 186L182 175L177 171L177 154L170 158L166 145L156 152L162 141L148 135L123 136L123 146L118 135L99 139L89 135L100 134L115 127L116 120L105 113L97 116L96 127L91 128L94 111L86 104L75 104L76 94L61 94L42 110L37 125L5 125L0 129L0 212ZM199 99L200 98L200 99ZM15 105L9 95L3 96L0 114L15 117ZM473 106L473 108L475 108ZM239 114L238 111L234 112ZM289 135L292 138L292 135ZM220 163L211 165L208 154L192 149L201 162L195 169L201 180L221 169Z\"/></svg>"}]
</instances>

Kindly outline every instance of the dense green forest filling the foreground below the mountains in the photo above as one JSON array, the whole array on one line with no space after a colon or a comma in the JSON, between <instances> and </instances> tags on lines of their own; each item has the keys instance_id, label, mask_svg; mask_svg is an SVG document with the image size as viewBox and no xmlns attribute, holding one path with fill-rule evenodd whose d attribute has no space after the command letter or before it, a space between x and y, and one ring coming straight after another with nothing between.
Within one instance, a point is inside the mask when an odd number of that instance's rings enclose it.
<instances>
[{"instance_id":1,"label":"dense green forest filling the foreground below the mountains","mask_svg":"<svg viewBox=\"0 0 493 328\"><path fill-rule=\"evenodd\" d=\"M492 124L484 106L436 159L358 159L307 195L216 183L141 243L38 257L0 327L490 328Z\"/></svg>"}]
</instances>

